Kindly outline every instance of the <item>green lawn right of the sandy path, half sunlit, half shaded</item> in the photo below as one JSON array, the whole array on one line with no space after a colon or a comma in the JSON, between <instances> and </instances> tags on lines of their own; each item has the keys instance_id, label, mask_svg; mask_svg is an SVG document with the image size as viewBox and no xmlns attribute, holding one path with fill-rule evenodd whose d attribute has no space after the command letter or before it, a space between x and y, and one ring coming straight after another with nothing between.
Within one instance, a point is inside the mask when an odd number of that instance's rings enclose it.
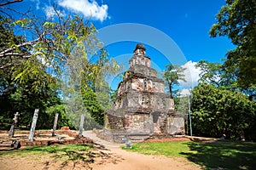
<instances>
[{"instance_id":1,"label":"green lawn right of the sandy path, half sunlit, half shaded","mask_svg":"<svg viewBox=\"0 0 256 170\"><path fill-rule=\"evenodd\" d=\"M131 151L145 155L186 157L205 169L256 169L256 143L230 141L137 143L132 145Z\"/></svg>"}]
</instances>

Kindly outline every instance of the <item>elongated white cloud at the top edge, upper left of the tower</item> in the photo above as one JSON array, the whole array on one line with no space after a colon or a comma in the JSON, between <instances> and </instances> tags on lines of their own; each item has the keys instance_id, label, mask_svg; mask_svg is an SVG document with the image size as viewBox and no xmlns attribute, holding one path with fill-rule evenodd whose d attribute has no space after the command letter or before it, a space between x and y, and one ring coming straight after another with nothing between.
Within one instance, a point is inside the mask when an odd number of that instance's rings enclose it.
<instances>
[{"instance_id":1,"label":"elongated white cloud at the top edge, upper left of the tower","mask_svg":"<svg viewBox=\"0 0 256 170\"><path fill-rule=\"evenodd\" d=\"M108 18L108 5L99 6L95 0L59 0L58 3L61 7L82 13L93 20L103 21Z\"/></svg>"}]
</instances>

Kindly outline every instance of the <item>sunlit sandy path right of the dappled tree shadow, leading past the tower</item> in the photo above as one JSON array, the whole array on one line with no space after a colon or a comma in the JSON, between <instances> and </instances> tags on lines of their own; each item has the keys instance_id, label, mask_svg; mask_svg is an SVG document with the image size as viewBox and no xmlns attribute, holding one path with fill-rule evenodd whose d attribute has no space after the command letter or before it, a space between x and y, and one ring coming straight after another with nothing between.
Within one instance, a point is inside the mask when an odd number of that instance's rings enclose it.
<instances>
[{"instance_id":1,"label":"sunlit sandy path right of the dappled tree shadow, leading past the tower","mask_svg":"<svg viewBox=\"0 0 256 170\"><path fill-rule=\"evenodd\" d=\"M91 131L84 132L84 136L93 139L97 144L104 145L108 152L119 157L119 160L115 163L105 163L104 165L93 165L93 169L102 170L149 170L149 169L161 169L161 170L183 170L183 169L201 169L201 167L193 164L185 158L168 158L166 156L144 156L139 153L130 152L120 149L120 144L111 143L96 137L95 133Z\"/></svg>"}]
</instances>

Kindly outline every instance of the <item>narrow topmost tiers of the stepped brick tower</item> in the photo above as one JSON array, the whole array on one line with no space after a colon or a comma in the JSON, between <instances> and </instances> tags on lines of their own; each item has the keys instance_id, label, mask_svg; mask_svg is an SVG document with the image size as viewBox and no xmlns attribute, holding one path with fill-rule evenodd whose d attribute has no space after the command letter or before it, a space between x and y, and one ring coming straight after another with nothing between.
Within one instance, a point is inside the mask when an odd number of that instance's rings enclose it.
<instances>
[{"instance_id":1,"label":"narrow topmost tiers of the stepped brick tower","mask_svg":"<svg viewBox=\"0 0 256 170\"><path fill-rule=\"evenodd\" d=\"M143 46L143 44L137 44L136 48L133 51L133 56L129 61L130 69L131 67L138 65L150 67L150 58L148 56L145 56L145 54L146 48Z\"/></svg>"}]
</instances>

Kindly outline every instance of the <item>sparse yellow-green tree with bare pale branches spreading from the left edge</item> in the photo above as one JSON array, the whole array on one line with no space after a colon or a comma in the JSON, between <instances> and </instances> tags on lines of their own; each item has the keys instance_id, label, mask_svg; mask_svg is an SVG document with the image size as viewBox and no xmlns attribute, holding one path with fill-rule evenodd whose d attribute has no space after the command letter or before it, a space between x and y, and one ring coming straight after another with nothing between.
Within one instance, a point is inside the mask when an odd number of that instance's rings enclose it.
<instances>
[{"instance_id":1,"label":"sparse yellow-green tree with bare pale branches spreading from the left edge","mask_svg":"<svg viewBox=\"0 0 256 170\"><path fill-rule=\"evenodd\" d=\"M6 4L9 3L1 3L0 6ZM61 103L51 103L44 95L44 101L38 99L38 103L32 103L32 99L40 97L45 91L54 93L53 98L61 96L66 116L76 123L73 124L74 127L78 127L80 114L88 112L84 106L86 102L83 99L86 96L83 97L83 90L89 91L87 88L90 88L96 95L96 86L105 84L106 75L118 70L119 65L113 59L108 59L102 42L95 37L96 28L92 23L79 15L63 15L61 10L54 9L55 17L50 20L41 20L41 17L31 13L21 14L19 20L14 20L2 11L9 20L3 17L1 23L3 45L0 47L0 73L4 80L1 84L1 97L4 96L4 100L15 96L15 101L20 102L18 109L22 105L29 105L29 108L40 107L39 115L45 116L45 119L40 120L45 122L49 121L47 114L53 114L54 111L49 108ZM24 35L18 37L14 35L14 30L22 31ZM10 41L12 39L8 39L5 31L17 40ZM90 61L91 56L98 53L96 62ZM9 71L8 77L4 75L6 71ZM108 88L107 85L104 87ZM24 95L27 91L32 95ZM49 103L51 104L48 105ZM99 102L96 105L101 104ZM29 117L28 112L31 111L27 110L26 118ZM99 113L101 114L102 112Z\"/></svg>"}]
</instances>

